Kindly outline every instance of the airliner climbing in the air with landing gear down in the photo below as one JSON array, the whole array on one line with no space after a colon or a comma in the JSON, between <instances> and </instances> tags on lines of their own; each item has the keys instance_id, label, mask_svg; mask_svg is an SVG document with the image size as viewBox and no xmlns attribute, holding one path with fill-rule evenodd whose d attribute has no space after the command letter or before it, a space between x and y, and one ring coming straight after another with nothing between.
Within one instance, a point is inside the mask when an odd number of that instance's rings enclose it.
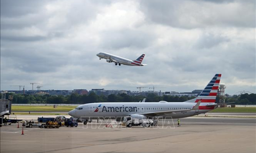
<instances>
[{"instance_id":1,"label":"airliner climbing in the air with landing gear down","mask_svg":"<svg viewBox=\"0 0 256 153\"><path fill-rule=\"evenodd\" d=\"M126 59L126 58L122 58L122 57L118 57L116 55L112 55L112 54L108 54L106 52L100 52L99 54L97 54L97 56L99 57L99 59L106 59L106 62L108 63L115 63L115 65L129 65L129 66L144 66L147 64L141 64L143 61L143 58L145 56L145 54L142 54L140 57L138 57L136 60L130 60L130 59Z\"/></svg>"}]
</instances>

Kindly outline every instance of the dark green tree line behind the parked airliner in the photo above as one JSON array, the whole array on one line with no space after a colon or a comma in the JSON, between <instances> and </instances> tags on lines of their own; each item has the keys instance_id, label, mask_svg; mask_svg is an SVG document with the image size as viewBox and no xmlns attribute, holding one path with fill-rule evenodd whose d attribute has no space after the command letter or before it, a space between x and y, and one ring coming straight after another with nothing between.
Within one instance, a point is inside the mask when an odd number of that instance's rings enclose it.
<instances>
[{"instance_id":1,"label":"dark green tree line behind the parked airliner","mask_svg":"<svg viewBox=\"0 0 256 153\"><path fill-rule=\"evenodd\" d=\"M6 98L8 95L13 95L13 103L20 104L33 104L33 103L48 103L48 104L85 104L85 103L97 103L97 102L139 102L146 98L146 102L184 102L195 97L187 96L158 96L155 94L148 94L147 96L136 95L130 96L127 94L118 94L118 95L96 95L94 92L91 92L89 95L78 95L71 94L67 96L63 95L22 95L22 94L13 94L6 93ZM216 103L219 102L219 96L216 98ZM226 102L235 102L237 105L256 105L256 94L241 94L234 95L232 97L226 97Z\"/></svg>"}]
</instances>

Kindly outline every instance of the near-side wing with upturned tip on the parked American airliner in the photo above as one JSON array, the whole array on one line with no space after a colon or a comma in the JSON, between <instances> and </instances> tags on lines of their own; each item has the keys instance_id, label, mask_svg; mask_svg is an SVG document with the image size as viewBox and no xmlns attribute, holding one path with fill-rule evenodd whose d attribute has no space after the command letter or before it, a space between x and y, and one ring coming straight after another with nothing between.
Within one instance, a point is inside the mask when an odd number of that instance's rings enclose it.
<instances>
[{"instance_id":1,"label":"near-side wing with upturned tip on the parked American airliner","mask_svg":"<svg viewBox=\"0 0 256 153\"><path fill-rule=\"evenodd\" d=\"M170 115L172 113L177 112L183 112L183 111L190 111L190 110L197 110L199 108L201 101L197 102L196 105L192 109L180 109L180 110L168 110L168 111L162 111L162 112L150 112L150 113L138 113L145 116L164 116L164 115Z\"/></svg>"}]
</instances>

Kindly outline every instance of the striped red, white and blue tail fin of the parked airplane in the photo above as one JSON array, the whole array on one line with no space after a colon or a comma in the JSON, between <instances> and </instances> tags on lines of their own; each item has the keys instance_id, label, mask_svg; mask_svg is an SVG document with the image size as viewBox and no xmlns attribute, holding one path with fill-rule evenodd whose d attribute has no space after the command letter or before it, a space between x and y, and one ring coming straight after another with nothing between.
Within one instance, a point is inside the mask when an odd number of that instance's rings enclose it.
<instances>
[{"instance_id":1,"label":"striped red, white and blue tail fin of the parked airplane","mask_svg":"<svg viewBox=\"0 0 256 153\"><path fill-rule=\"evenodd\" d=\"M215 103L216 96L219 89L220 78L221 78L221 74L215 74L213 79L211 79L211 81L206 85L206 87L199 94L199 96L185 102L197 103L201 101L201 103L211 103L211 104Z\"/></svg>"}]
</instances>

